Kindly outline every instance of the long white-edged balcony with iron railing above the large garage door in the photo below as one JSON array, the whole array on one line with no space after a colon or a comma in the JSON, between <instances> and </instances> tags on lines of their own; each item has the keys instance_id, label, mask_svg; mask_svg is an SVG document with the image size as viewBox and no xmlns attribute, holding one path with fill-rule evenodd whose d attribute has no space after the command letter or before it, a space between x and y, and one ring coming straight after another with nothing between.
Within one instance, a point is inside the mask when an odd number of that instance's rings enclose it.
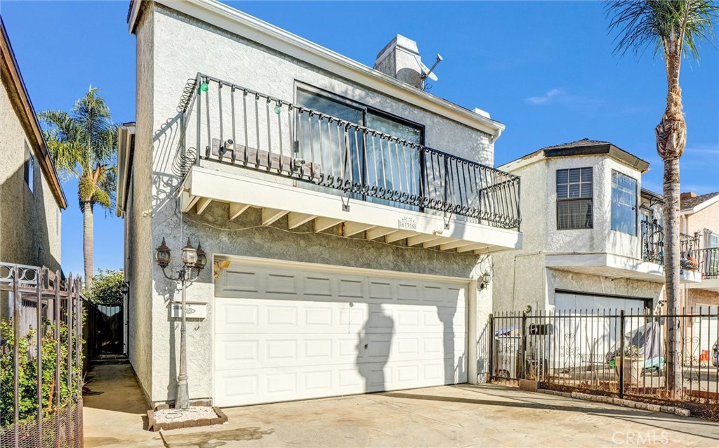
<instances>
[{"instance_id":1,"label":"long white-edged balcony with iron railing above the large garage door","mask_svg":"<svg viewBox=\"0 0 719 448\"><path fill-rule=\"evenodd\" d=\"M210 76L178 106L183 211L486 253L521 247L519 178ZM197 150L197 149L200 150Z\"/></svg>"}]
</instances>

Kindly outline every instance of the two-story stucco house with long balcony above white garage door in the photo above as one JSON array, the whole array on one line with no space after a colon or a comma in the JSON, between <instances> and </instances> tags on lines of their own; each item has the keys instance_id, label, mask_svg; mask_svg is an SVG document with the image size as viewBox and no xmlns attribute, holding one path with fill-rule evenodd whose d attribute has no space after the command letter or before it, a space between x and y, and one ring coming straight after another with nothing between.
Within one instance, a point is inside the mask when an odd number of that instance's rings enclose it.
<instances>
[{"instance_id":1,"label":"two-story stucco house with long balcony above white garage door","mask_svg":"<svg viewBox=\"0 0 719 448\"><path fill-rule=\"evenodd\" d=\"M371 68L216 1L134 1L129 31L117 204L149 401L173 401L178 372L163 238L175 263L188 238L209 259L187 290L192 399L485 378L491 254L522 242L519 179L492 168L503 124L424 91L399 35Z\"/></svg>"}]
</instances>

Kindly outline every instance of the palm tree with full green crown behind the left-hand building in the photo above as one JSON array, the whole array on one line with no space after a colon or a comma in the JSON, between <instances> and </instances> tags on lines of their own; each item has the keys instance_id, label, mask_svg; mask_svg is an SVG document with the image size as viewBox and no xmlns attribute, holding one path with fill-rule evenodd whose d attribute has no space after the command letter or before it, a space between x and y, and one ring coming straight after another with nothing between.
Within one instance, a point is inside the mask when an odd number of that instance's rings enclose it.
<instances>
[{"instance_id":1,"label":"palm tree with full green crown behind the left-hand building","mask_svg":"<svg viewBox=\"0 0 719 448\"><path fill-rule=\"evenodd\" d=\"M44 111L40 119L47 124L45 140L55 166L65 178L78 179L78 204L83 212L83 256L86 288L93 275L93 207L111 209L116 186L117 130L112 123L99 88L75 102L71 114Z\"/></svg>"}]
</instances>

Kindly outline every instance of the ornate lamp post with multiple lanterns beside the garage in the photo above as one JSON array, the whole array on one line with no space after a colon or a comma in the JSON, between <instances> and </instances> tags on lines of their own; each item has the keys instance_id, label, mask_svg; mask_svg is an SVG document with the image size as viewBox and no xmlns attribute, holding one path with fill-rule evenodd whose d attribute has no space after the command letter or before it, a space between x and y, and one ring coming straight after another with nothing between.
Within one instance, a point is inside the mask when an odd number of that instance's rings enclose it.
<instances>
[{"instance_id":1,"label":"ornate lamp post with multiple lanterns beside the garage","mask_svg":"<svg viewBox=\"0 0 719 448\"><path fill-rule=\"evenodd\" d=\"M165 238L162 238L162 242L155 248L155 261L157 265L162 268L162 275L165 278L173 280L174 282L180 282L182 285L182 311L180 320L180 373L178 374L178 390L177 396L175 396L175 408L187 409L190 407L190 395L188 393L187 385L187 344L186 344L186 290L193 281L197 280L200 275L200 271L205 267L207 263L207 255L202 250L202 245L197 244L195 249L190 239L187 239L187 244L182 248L181 259L183 267L177 271L176 277L170 277L165 272L165 268L170 265L170 248L165 244ZM193 275L193 269L197 270L197 273Z\"/></svg>"}]
</instances>

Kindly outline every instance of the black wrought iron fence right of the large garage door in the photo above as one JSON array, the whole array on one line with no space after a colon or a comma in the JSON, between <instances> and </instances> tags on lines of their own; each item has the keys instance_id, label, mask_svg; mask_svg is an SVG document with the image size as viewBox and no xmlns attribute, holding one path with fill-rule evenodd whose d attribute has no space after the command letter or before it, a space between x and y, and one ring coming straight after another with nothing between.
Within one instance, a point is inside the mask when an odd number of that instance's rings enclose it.
<instances>
[{"instance_id":1,"label":"black wrought iron fence right of the large garage door","mask_svg":"<svg viewBox=\"0 0 719 448\"><path fill-rule=\"evenodd\" d=\"M668 329L676 329L670 345ZM490 317L492 380L649 401L719 405L719 311L500 313ZM669 366L674 365L674 369Z\"/></svg>"}]
</instances>

